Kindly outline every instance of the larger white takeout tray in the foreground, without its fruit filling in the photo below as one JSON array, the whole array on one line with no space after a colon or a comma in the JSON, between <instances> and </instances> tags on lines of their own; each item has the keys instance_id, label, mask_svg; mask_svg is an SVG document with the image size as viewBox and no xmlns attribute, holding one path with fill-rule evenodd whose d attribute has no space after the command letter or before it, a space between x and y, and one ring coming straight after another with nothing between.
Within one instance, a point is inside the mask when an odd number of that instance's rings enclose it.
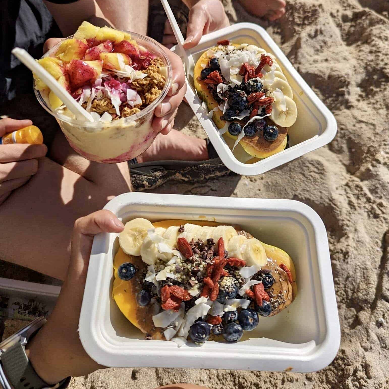
<instances>
[{"instance_id":1,"label":"larger white takeout tray in the foreground, without its fruit filling","mask_svg":"<svg viewBox=\"0 0 389 389\"><path fill-rule=\"evenodd\" d=\"M144 217L240 224L254 237L293 258L298 294L238 343L145 340L112 298L117 234L96 235L82 302L79 335L84 349L104 366L316 371L335 357L340 326L326 229L317 213L294 200L126 193L105 209L123 222Z\"/></svg>"}]
</instances>

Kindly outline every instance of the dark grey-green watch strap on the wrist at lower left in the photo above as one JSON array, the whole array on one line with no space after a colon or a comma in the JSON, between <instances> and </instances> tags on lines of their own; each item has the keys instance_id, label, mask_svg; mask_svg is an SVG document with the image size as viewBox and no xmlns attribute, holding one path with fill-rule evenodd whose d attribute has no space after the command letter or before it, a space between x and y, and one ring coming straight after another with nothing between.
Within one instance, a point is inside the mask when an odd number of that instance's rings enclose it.
<instances>
[{"instance_id":1,"label":"dark grey-green watch strap on the wrist at lower left","mask_svg":"<svg viewBox=\"0 0 389 389\"><path fill-rule=\"evenodd\" d=\"M2 354L1 362L9 382L15 389L42 389L51 386L34 370L26 355L25 347L20 342Z\"/></svg>"}]
</instances>

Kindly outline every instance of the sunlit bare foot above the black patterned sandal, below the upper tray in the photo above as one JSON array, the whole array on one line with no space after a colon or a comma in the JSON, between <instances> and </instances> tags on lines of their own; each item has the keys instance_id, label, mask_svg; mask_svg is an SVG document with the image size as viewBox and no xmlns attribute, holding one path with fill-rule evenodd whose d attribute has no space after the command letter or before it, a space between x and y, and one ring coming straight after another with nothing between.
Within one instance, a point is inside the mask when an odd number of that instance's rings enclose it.
<instances>
[{"instance_id":1,"label":"sunlit bare foot above the black patterned sandal, below the upper tray","mask_svg":"<svg viewBox=\"0 0 389 389\"><path fill-rule=\"evenodd\" d=\"M205 161L208 159L207 144L204 139L189 137L172 130L168 135L158 134L154 143L140 156L138 163L149 161Z\"/></svg>"}]
</instances>

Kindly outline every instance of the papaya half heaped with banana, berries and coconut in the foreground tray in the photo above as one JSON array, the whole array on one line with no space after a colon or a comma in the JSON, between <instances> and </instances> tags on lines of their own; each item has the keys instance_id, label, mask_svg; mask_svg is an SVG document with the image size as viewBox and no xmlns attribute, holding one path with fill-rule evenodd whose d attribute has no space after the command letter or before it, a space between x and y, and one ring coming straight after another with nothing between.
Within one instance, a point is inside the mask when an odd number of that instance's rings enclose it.
<instances>
[{"instance_id":1,"label":"papaya half heaped with banana, berries and coconut in the foreground tray","mask_svg":"<svg viewBox=\"0 0 389 389\"><path fill-rule=\"evenodd\" d=\"M113 297L146 338L234 343L296 296L290 256L240 226L136 218L119 244Z\"/></svg>"}]
</instances>

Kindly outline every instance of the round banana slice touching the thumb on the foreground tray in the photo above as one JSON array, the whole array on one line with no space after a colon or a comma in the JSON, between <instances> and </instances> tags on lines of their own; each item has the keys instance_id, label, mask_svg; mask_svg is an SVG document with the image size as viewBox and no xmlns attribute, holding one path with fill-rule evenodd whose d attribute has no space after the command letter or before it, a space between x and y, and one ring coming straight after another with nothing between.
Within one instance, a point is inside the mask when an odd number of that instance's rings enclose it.
<instances>
[{"instance_id":1,"label":"round banana slice touching the thumb on the foreground tray","mask_svg":"<svg viewBox=\"0 0 389 389\"><path fill-rule=\"evenodd\" d=\"M126 254L139 256L140 247L144 238L147 236L147 230L154 228L150 221L138 217L126 223L124 230L119 234L119 245Z\"/></svg>"}]
</instances>

